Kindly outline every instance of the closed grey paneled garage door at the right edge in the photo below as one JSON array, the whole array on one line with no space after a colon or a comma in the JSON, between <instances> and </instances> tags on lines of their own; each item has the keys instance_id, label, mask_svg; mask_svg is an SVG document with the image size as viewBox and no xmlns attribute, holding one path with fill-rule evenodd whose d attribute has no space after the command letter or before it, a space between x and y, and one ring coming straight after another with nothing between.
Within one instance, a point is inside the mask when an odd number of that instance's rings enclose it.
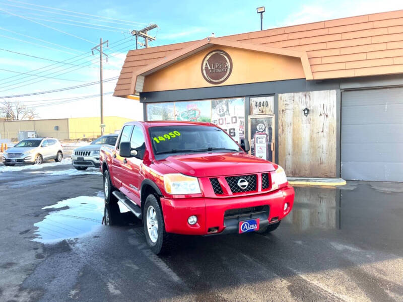
<instances>
[{"instance_id":1,"label":"closed grey paneled garage door at the right edge","mask_svg":"<svg viewBox=\"0 0 403 302\"><path fill-rule=\"evenodd\" d=\"M342 93L342 177L403 182L403 88Z\"/></svg>"}]
</instances>

